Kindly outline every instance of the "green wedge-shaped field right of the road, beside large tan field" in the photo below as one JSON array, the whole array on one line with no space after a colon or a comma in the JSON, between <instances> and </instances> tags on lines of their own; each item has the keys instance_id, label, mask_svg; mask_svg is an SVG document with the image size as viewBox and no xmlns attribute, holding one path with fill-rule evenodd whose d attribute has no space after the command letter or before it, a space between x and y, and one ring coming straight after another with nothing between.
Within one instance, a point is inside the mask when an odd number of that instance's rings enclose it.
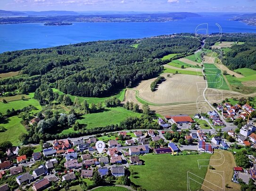
<instances>
[{"instance_id":1,"label":"green wedge-shaped field right of the road, beside large tan field","mask_svg":"<svg viewBox=\"0 0 256 191\"><path fill-rule=\"evenodd\" d=\"M204 64L205 74L209 88L216 88L222 90L229 90L229 86L224 80L221 70L214 64Z\"/></svg>"}]
</instances>

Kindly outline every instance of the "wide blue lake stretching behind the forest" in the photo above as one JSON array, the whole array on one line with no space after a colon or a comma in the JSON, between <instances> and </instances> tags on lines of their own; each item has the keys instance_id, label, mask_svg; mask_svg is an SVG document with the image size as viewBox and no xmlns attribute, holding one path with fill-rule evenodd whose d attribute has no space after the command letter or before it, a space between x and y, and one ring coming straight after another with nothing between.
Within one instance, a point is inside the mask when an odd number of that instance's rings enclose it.
<instances>
[{"instance_id":1,"label":"wide blue lake stretching behind the forest","mask_svg":"<svg viewBox=\"0 0 256 191\"><path fill-rule=\"evenodd\" d=\"M219 31L215 23L220 24L223 32L256 33L256 26L229 21L220 16L193 17L165 23L74 23L67 26L44 26L43 23L7 24L0 25L0 53L95 40L194 33L201 23L208 23L209 33Z\"/></svg>"}]
</instances>

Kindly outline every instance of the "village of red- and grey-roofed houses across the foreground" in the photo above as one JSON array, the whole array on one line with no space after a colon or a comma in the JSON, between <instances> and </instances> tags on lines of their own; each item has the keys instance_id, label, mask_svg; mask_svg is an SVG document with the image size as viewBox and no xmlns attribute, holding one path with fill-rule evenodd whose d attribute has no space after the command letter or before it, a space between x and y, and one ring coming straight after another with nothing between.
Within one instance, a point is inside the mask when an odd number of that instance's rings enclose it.
<instances>
[{"instance_id":1,"label":"village of red- and grey-roofed houses across the foreground","mask_svg":"<svg viewBox=\"0 0 256 191\"><path fill-rule=\"evenodd\" d=\"M51 185L61 188L65 183L91 180L95 173L114 180L127 176L131 165L144 165L140 155L168 153L175 156L182 155L184 151L189 154L212 154L215 149L229 150L234 144L256 148L256 126L254 119L249 119L255 111L253 107L248 104L231 106L226 102L223 106L216 106L216 110L204 116L169 115L164 119L158 118L162 130L124 130L88 138L49 141L41 145L41 152L32 156L20 155L20 147L13 146L7 149L7 157L0 159L0 179L13 176L19 187L42 191ZM226 125L237 118L246 122L239 131ZM37 120L35 118L31 123ZM205 120L211 127L222 126L223 129L203 130L198 120ZM178 137L175 137L177 134ZM98 140L106 144L102 153L96 150ZM234 167L233 182L238 183L239 177L245 182L249 178L256 180L256 159L248 157L252 168ZM1 185L0 190L8 191L8 184Z\"/></svg>"}]
</instances>

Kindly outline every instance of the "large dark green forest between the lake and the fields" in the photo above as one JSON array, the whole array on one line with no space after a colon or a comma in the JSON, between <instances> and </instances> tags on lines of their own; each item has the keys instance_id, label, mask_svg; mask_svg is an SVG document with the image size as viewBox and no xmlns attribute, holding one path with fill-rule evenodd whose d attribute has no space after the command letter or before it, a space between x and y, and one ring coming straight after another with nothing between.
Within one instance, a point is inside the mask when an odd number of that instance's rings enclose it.
<instances>
[{"instance_id":1,"label":"large dark green forest between the lake and the fields","mask_svg":"<svg viewBox=\"0 0 256 191\"><path fill-rule=\"evenodd\" d=\"M138 48L132 47L139 44ZM77 96L106 96L119 88L155 76L169 53L193 53L200 42L189 34L147 39L120 39L0 54L0 90L34 92L48 83Z\"/></svg>"}]
</instances>

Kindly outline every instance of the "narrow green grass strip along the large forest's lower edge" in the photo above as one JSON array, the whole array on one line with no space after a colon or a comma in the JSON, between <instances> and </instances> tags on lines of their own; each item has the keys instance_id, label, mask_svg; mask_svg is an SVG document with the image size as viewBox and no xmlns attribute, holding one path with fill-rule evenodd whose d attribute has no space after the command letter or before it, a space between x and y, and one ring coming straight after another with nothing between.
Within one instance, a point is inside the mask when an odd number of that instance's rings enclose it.
<instances>
[{"instance_id":1,"label":"narrow green grass strip along the large forest's lower edge","mask_svg":"<svg viewBox=\"0 0 256 191\"><path fill-rule=\"evenodd\" d=\"M60 92L59 90L57 90L57 89L55 89L55 88L53 88L52 90L53 90L53 92L58 92L59 94L63 94L63 92ZM115 96L116 96L118 99L120 99L121 101L123 101L123 100L124 100L124 95L125 95L125 89L121 90L121 91L120 91L119 93L117 93ZM69 95L69 96L70 96L71 100L74 101L74 99L75 99L76 96L73 96L73 95ZM110 98L110 97L92 98L92 97L79 97L79 96L77 96L77 97L78 97L78 99L79 99L80 102L83 102L83 100L86 99L89 104L91 104L91 103L98 103L98 102L104 102L105 99ZM104 103L103 103L103 104L104 104Z\"/></svg>"}]
</instances>

